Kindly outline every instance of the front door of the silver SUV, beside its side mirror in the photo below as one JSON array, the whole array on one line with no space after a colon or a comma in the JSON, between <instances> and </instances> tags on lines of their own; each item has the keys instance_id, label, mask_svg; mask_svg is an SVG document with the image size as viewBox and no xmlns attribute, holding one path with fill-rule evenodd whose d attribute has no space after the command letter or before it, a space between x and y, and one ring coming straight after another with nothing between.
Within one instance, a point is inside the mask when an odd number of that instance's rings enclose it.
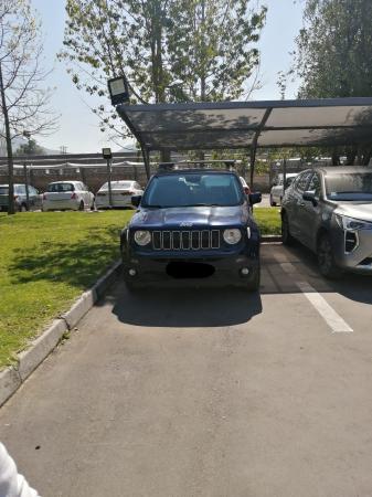
<instances>
[{"instance_id":1,"label":"front door of the silver SUV, beside its side mirror","mask_svg":"<svg viewBox=\"0 0 372 497\"><path fill-rule=\"evenodd\" d=\"M318 226L321 223L321 208L319 202L320 177L318 172L313 172L313 175L310 177L309 183L306 187L306 191L315 192L316 203L312 203L304 199L302 202L298 203L299 220L300 220L299 236L304 245L308 246L311 250L315 250Z\"/></svg>"}]
</instances>

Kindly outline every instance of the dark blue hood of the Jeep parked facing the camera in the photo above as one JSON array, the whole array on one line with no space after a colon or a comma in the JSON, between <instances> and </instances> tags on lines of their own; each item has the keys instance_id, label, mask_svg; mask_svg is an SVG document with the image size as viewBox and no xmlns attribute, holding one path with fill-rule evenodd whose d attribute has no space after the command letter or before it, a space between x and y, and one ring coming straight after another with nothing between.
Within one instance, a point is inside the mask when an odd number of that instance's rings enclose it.
<instances>
[{"instance_id":1,"label":"dark blue hood of the Jeep parked facing the camera","mask_svg":"<svg viewBox=\"0 0 372 497\"><path fill-rule=\"evenodd\" d=\"M140 209L131 219L132 228L193 228L231 226L246 224L249 218L246 204L237 207L190 207Z\"/></svg>"}]
</instances>

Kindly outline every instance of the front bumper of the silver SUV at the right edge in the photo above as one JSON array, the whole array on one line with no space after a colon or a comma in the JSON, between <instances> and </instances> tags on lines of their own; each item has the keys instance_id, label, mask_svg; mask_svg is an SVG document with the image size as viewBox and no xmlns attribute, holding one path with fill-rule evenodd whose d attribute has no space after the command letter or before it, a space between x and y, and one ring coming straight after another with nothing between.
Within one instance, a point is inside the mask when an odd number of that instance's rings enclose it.
<instances>
[{"instance_id":1,"label":"front bumper of the silver SUV at the right edge","mask_svg":"<svg viewBox=\"0 0 372 497\"><path fill-rule=\"evenodd\" d=\"M347 233L340 229L332 233L336 264L346 271L372 275L372 230L350 232L355 237L355 246L350 252L346 250Z\"/></svg>"}]
</instances>

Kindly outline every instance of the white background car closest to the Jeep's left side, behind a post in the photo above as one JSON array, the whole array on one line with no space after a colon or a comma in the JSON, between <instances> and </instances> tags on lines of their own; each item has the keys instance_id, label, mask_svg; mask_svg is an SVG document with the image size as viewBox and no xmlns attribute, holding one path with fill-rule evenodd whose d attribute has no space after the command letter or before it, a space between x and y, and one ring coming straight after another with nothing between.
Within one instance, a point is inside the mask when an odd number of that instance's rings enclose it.
<instances>
[{"instance_id":1,"label":"white background car closest to the Jeep's left side, behind a post","mask_svg":"<svg viewBox=\"0 0 372 497\"><path fill-rule=\"evenodd\" d=\"M113 205L109 204L108 183L105 183L97 191L96 207L97 209L130 207L131 198L142 193L144 190L137 181L111 181Z\"/></svg>"}]
</instances>

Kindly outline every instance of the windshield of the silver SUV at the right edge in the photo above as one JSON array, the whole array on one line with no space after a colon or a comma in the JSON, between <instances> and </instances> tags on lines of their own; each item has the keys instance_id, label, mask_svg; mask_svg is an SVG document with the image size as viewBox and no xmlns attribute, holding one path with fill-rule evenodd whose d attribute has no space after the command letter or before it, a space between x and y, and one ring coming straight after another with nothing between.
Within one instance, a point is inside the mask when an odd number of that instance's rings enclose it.
<instances>
[{"instance_id":1,"label":"windshield of the silver SUV at the right edge","mask_svg":"<svg viewBox=\"0 0 372 497\"><path fill-rule=\"evenodd\" d=\"M372 200L372 172L351 172L326 176L326 191L330 200Z\"/></svg>"}]
</instances>

